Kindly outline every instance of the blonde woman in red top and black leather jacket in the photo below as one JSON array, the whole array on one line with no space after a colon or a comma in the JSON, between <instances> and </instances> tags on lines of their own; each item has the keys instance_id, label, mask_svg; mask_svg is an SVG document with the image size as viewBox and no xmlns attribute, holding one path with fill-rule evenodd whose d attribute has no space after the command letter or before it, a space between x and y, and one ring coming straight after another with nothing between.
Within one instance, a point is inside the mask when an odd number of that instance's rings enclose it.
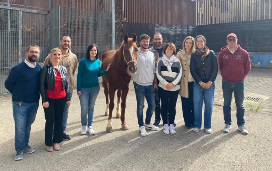
<instances>
[{"instance_id":1,"label":"blonde woman in red top and black leather jacket","mask_svg":"<svg viewBox=\"0 0 272 171\"><path fill-rule=\"evenodd\" d=\"M45 149L48 152L60 150L62 137L62 115L64 105L70 104L67 70L59 65L61 50L54 48L50 53L51 63L40 71L40 94L45 112ZM55 124L54 124L55 122ZM52 139L54 124L54 137Z\"/></svg>"}]
</instances>

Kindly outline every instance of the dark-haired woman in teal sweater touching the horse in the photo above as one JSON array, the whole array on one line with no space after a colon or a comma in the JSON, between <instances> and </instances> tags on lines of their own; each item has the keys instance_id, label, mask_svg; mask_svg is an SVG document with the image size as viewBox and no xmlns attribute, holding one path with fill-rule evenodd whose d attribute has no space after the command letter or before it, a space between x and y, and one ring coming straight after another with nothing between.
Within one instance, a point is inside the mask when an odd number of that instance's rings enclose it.
<instances>
[{"instance_id":1,"label":"dark-haired woman in teal sweater touching the horse","mask_svg":"<svg viewBox=\"0 0 272 171\"><path fill-rule=\"evenodd\" d=\"M86 58L80 60L77 73L77 95L79 96L81 106L81 134L85 135L88 114L88 132L90 135L95 134L93 131L94 104L100 91L98 77L108 73L110 64L107 69L101 72L101 62L98 59L99 53L96 44L89 45Z\"/></svg>"}]
</instances>

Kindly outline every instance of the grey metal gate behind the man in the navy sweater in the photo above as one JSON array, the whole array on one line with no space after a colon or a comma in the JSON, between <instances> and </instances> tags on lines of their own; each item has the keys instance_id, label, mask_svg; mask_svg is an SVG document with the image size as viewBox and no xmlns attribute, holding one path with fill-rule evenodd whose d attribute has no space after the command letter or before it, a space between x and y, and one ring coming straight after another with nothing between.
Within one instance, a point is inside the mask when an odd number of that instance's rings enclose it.
<instances>
[{"instance_id":1,"label":"grey metal gate behind the man in the navy sweater","mask_svg":"<svg viewBox=\"0 0 272 171\"><path fill-rule=\"evenodd\" d=\"M0 3L0 96L8 93L4 81L11 68L26 58L27 47L40 47L43 61L50 46L47 11L15 8Z\"/></svg>"}]
</instances>

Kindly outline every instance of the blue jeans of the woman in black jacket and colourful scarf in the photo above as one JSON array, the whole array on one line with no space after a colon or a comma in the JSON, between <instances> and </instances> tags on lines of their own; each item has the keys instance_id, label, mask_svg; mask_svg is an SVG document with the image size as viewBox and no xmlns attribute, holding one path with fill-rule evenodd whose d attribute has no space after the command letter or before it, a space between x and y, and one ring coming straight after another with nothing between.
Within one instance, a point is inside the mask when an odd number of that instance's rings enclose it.
<instances>
[{"instance_id":1,"label":"blue jeans of the woman in black jacket and colourful scarf","mask_svg":"<svg viewBox=\"0 0 272 171\"><path fill-rule=\"evenodd\" d=\"M215 85L212 83L209 89L204 89L201 85L194 82L194 92L193 92L193 100L194 100L194 112L195 112L195 128L201 128L202 124L202 107L203 100L205 104L204 109L204 128L211 128L211 114L213 109L213 96L214 96Z\"/></svg>"}]
</instances>

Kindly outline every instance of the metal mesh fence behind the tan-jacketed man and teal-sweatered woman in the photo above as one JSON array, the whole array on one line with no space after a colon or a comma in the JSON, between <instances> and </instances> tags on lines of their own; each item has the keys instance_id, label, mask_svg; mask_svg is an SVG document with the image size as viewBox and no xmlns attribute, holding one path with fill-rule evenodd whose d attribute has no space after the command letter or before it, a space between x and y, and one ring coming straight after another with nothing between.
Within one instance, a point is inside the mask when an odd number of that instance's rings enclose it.
<instances>
[{"instance_id":1,"label":"metal mesh fence behind the tan-jacketed man and teal-sweatered woman","mask_svg":"<svg viewBox=\"0 0 272 171\"><path fill-rule=\"evenodd\" d=\"M61 35L71 36L71 51L80 60L88 45L95 43L101 54L112 49L112 18L110 13L83 9L52 8L51 48L58 47Z\"/></svg>"}]
</instances>

